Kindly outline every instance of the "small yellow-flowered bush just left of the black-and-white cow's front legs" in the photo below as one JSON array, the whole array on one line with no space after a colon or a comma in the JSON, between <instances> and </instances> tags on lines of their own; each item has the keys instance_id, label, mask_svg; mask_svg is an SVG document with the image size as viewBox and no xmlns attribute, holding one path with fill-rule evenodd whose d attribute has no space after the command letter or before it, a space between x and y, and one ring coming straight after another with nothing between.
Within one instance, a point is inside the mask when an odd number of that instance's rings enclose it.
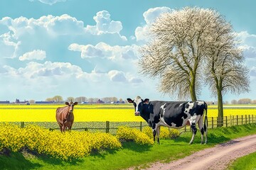
<instances>
[{"instance_id":1,"label":"small yellow-flowered bush just left of the black-and-white cow's front legs","mask_svg":"<svg viewBox=\"0 0 256 170\"><path fill-rule=\"evenodd\" d=\"M139 145L154 144L154 141L151 140L146 134L127 126L120 126L117 129L117 138L119 138L120 141L134 141Z\"/></svg>"}]
</instances>

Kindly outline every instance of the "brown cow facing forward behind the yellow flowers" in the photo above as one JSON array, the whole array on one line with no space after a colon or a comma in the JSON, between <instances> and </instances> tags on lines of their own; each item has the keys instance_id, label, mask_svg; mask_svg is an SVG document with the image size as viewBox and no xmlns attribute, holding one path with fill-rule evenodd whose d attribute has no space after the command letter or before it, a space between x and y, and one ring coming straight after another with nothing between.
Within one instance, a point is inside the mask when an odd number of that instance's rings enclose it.
<instances>
[{"instance_id":1,"label":"brown cow facing forward behind the yellow flowers","mask_svg":"<svg viewBox=\"0 0 256 170\"><path fill-rule=\"evenodd\" d=\"M58 125L60 126L60 132L65 132L65 130L71 130L71 127L74 122L74 106L78 104L78 102L70 103L65 102L67 106L57 108L56 110L56 120Z\"/></svg>"}]
</instances>

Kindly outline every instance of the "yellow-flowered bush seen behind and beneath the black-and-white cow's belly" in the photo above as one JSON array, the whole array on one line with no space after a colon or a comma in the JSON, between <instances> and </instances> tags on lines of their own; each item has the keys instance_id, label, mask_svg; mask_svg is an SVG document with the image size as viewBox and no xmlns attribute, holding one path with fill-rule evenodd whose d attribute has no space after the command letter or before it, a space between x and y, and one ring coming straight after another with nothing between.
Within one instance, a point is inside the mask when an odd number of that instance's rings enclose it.
<instances>
[{"instance_id":1,"label":"yellow-flowered bush seen behind and beneath the black-and-white cow's belly","mask_svg":"<svg viewBox=\"0 0 256 170\"><path fill-rule=\"evenodd\" d=\"M150 127L145 127L142 129L142 132L144 132L146 135L149 137L153 138L153 132ZM160 139L174 139L179 136L178 130L174 128L166 128L166 127L161 127L160 129Z\"/></svg>"}]
</instances>

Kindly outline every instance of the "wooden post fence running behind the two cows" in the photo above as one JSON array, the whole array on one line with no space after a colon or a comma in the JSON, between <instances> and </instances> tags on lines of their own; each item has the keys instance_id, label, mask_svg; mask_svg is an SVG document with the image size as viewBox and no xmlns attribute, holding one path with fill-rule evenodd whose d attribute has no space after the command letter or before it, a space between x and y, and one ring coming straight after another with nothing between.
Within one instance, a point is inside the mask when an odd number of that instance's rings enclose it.
<instances>
[{"instance_id":1,"label":"wooden post fence running behind the two cows","mask_svg":"<svg viewBox=\"0 0 256 170\"><path fill-rule=\"evenodd\" d=\"M244 125L248 123L256 123L256 115L230 115L223 118L220 117L208 117L208 128L213 129L220 127L230 127L233 125ZM28 124L38 124L50 130L59 130L57 123L24 123L21 122L21 128L24 128ZM146 121L144 122L90 122L90 123L74 123L73 130L85 130L90 132L110 132L112 134L116 133L116 130L121 125L127 125L130 128L137 128L142 131L143 127L148 126ZM184 128L178 129L180 132L187 132L191 130L190 126L185 126Z\"/></svg>"}]
</instances>

